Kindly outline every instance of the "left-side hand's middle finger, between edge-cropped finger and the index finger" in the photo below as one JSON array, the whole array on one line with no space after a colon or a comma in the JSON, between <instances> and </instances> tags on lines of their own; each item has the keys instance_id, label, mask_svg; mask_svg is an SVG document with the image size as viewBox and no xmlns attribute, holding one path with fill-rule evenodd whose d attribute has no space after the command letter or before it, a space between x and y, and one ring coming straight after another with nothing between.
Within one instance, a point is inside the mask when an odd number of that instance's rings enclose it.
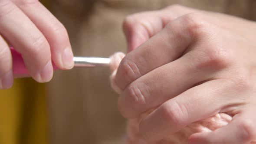
<instances>
[{"instance_id":1,"label":"left-side hand's middle finger, between edge-cropped finger and the index finger","mask_svg":"<svg viewBox=\"0 0 256 144\"><path fill-rule=\"evenodd\" d=\"M9 0L0 1L0 33L19 52L37 82L53 76L49 44L32 21Z\"/></svg>"}]
</instances>

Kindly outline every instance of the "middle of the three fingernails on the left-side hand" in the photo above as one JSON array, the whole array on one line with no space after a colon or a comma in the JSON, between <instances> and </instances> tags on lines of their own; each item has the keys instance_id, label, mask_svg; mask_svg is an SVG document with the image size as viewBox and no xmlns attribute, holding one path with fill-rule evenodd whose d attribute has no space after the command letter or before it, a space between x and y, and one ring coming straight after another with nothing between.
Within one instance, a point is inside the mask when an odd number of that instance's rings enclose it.
<instances>
[{"instance_id":1,"label":"middle of the three fingernails on the left-side hand","mask_svg":"<svg viewBox=\"0 0 256 144\"><path fill-rule=\"evenodd\" d=\"M52 61L49 60L40 72L39 82L49 82L53 78L53 65Z\"/></svg>"}]
</instances>

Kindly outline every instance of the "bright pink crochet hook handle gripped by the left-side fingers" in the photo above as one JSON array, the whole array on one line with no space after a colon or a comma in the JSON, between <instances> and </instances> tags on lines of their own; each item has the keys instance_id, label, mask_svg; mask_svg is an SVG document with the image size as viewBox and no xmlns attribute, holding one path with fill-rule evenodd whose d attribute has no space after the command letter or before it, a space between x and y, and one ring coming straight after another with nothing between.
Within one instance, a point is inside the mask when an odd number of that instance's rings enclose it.
<instances>
[{"instance_id":1,"label":"bright pink crochet hook handle gripped by the left-side fingers","mask_svg":"<svg viewBox=\"0 0 256 144\"><path fill-rule=\"evenodd\" d=\"M19 52L16 52L12 47L10 48L12 57L13 57L13 74L26 75L28 71L23 62L22 56ZM58 69L56 65L53 63L53 69Z\"/></svg>"}]
</instances>

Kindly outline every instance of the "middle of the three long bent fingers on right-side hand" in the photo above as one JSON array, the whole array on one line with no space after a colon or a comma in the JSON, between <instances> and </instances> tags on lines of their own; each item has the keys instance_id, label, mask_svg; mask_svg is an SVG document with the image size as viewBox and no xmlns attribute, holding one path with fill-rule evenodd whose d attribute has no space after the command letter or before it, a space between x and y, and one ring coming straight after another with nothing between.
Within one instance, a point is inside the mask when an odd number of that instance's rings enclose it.
<instances>
[{"instance_id":1,"label":"middle of the three long bent fingers on right-side hand","mask_svg":"<svg viewBox=\"0 0 256 144\"><path fill-rule=\"evenodd\" d=\"M118 98L118 109L126 118L134 118L210 78L214 69L198 69L203 59L189 52L174 62L148 72L128 85ZM198 60L196 60L198 59Z\"/></svg>"}]
</instances>

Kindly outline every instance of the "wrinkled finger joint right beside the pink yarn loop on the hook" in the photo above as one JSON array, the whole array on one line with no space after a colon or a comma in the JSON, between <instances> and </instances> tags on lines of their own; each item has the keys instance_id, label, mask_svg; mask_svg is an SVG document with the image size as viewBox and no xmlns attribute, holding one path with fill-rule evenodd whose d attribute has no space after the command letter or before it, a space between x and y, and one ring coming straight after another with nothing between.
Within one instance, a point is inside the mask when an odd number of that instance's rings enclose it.
<instances>
[{"instance_id":1,"label":"wrinkled finger joint right beside the pink yarn loop on the hook","mask_svg":"<svg viewBox=\"0 0 256 144\"><path fill-rule=\"evenodd\" d=\"M124 72L123 75L127 82L132 82L141 76L137 64L127 58L124 58L121 61L119 69L122 69L122 71Z\"/></svg>"}]
</instances>

